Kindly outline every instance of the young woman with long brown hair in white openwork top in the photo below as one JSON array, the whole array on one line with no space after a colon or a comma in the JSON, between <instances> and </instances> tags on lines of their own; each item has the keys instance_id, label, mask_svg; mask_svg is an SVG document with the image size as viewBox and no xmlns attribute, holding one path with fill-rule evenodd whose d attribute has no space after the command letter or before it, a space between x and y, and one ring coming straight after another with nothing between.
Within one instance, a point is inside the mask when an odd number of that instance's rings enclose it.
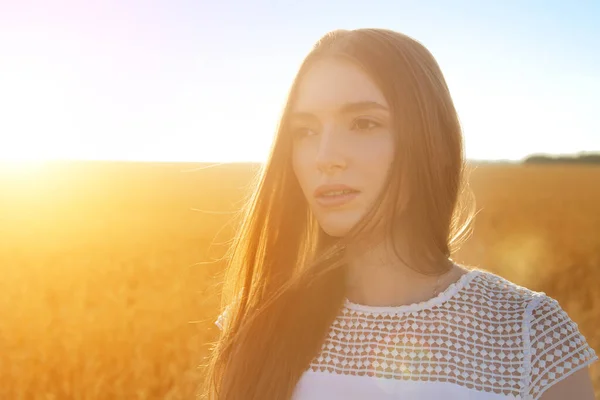
<instances>
[{"instance_id":1,"label":"young woman with long brown hair in white openwork top","mask_svg":"<svg viewBox=\"0 0 600 400\"><path fill-rule=\"evenodd\" d=\"M433 56L380 29L300 67L229 260L215 399L593 399L556 300L450 258L464 154Z\"/></svg>"}]
</instances>

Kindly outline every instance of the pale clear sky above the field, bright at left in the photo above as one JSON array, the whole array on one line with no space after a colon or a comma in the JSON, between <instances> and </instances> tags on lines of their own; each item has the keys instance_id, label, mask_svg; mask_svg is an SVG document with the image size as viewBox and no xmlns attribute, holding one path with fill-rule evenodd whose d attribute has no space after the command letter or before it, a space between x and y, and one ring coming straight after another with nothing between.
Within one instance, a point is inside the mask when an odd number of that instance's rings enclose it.
<instances>
[{"instance_id":1,"label":"pale clear sky above the field, bright at left","mask_svg":"<svg viewBox=\"0 0 600 400\"><path fill-rule=\"evenodd\" d=\"M600 151L600 2L0 0L0 160L262 161L312 44L421 41L470 159Z\"/></svg>"}]
</instances>

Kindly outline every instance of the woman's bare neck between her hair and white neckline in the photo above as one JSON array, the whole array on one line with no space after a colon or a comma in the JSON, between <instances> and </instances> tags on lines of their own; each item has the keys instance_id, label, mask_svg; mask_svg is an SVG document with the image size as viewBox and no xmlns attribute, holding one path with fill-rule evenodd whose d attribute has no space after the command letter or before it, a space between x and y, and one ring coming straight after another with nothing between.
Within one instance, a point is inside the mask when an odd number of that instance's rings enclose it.
<instances>
[{"instance_id":1,"label":"woman's bare neck between her hair and white neckline","mask_svg":"<svg viewBox=\"0 0 600 400\"><path fill-rule=\"evenodd\" d=\"M435 297L466 272L450 260L423 265L408 257L405 246L397 247L400 257L385 242L347 248L346 297L350 301L372 306L418 303Z\"/></svg>"}]
</instances>

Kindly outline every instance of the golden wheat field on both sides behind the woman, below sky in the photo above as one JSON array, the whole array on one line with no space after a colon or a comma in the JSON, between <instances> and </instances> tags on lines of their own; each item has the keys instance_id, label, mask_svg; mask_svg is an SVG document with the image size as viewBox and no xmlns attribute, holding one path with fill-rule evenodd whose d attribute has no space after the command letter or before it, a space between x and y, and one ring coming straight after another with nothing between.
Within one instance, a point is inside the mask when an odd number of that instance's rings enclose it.
<instances>
[{"instance_id":1,"label":"golden wheat field on both sides behind the woman, below sky","mask_svg":"<svg viewBox=\"0 0 600 400\"><path fill-rule=\"evenodd\" d=\"M0 170L0 399L194 398L257 168L199 167ZM454 258L558 299L598 353L600 167L481 164L470 182L479 213Z\"/></svg>"}]
</instances>

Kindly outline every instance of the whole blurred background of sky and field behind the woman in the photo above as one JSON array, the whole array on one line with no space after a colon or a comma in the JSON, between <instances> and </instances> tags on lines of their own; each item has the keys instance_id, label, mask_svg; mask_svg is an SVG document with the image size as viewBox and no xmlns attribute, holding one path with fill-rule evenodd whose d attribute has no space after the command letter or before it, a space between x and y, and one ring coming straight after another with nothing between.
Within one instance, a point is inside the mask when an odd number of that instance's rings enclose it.
<instances>
[{"instance_id":1,"label":"whole blurred background of sky and field behind the woman","mask_svg":"<svg viewBox=\"0 0 600 400\"><path fill-rule=\"evenodd\" d=\"M433 53L478 209L454 258L556 298L600 354L599 20L591 0L0 0L0 398L193 398L232 217L338 28Z\"/></svg>"}]
</instances>

